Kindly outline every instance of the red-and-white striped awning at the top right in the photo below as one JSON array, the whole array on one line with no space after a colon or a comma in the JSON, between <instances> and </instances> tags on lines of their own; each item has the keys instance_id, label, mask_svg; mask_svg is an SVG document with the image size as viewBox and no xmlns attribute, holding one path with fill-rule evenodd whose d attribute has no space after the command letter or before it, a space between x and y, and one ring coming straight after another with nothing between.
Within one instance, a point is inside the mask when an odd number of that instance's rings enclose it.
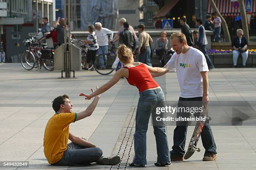
<instances>
[{"instance_id":1,"label":"red-and-white striped awning at the top right","mask_svg":"<svg viewBox=\"0 0 256 170\"><path fill-rule=\"evenodd\" d=\"M215 4L216 4L218 10L220 11L220 13L223 16L237 16L237 15L240 15L239 8L235 9L233 7L234 2L231 2L230 0L214 0L214 1L215 1ZM246 0L244 0L244 4L246 5ZM212 10L212 7L211 7L210 2L208 0L208 2L207 2L207 13L210 14L212 12L213 12L213 10ZM256 0L251 0L251 13L252 13L252 16L256 15Z\"/></svg>"}]
</instances>

